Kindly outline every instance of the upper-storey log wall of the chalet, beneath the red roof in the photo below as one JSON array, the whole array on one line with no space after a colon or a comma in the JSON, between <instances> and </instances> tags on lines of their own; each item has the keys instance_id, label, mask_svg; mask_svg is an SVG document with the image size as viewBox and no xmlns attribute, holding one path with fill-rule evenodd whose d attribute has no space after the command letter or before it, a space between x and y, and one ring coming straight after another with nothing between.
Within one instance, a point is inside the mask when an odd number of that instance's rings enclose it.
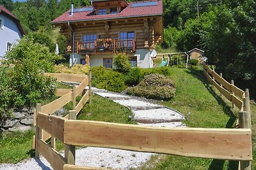
<instances>
[{"instance_id":1,"label":"upper-storey log wall of the chalet, beneath the red roof","mask_svg":"<svg viewBox=\"0 0 256 170\"><path fill-rule=\"evenodd\" d=\"M97 34L97 39L110 38L117 40L120 31L134 31L136 49L155 48L157 43L163 41L161 22L163 22L162 16L71 22L70 26L75 32L74 51L76 52L77 41L83 42L84 34ZM72 30L68 24L58 24L57 26L61 27L61 34L67 38L68 45L72 46ZM145 42L147 42L147 45Z\"/></svg>"}]
</instances>

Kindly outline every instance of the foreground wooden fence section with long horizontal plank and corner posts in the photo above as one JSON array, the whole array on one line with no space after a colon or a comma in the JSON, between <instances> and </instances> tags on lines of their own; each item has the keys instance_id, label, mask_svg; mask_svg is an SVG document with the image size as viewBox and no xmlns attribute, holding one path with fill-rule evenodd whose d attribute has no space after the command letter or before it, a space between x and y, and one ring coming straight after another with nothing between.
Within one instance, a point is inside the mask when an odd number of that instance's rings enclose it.
<instances>
[{"instance_id":1,"label":"foreground wooden fence section with long horizontal plank and corner posts","mask_svg":"<svg viewBox=\"0 0 256 170\"><path fill-rule=\"evenodd\" d=\"M246 105L246 104L245 104ZM244 105L244 110L247 110ZM54 169L102 169L75 166L76 146L99 146L138 152L166 153L186 157L240 160L248 169L252 160L252 131L248 112L241 111L241 129L164 128L76 120L77 110L68 119L47 115L36 107L36 157L42 154ZM40 131L65 144L65 156L47 145ZM250 165L250 164L249 164Z\"/></svg>"}]
</instances>

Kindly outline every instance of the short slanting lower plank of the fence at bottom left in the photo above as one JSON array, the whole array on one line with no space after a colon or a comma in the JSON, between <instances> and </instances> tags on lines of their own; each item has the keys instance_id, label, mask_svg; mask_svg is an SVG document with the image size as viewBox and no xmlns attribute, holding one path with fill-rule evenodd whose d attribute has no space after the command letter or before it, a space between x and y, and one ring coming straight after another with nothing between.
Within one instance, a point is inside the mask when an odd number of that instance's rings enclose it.
<instances>
[{"instance_id":1,"label":"short slanting lower plank of the fence at bottom left","mask_svg":"<svg viewBox=\"0 0 256 170\"><path fill-rule=\"evenodd\" d=\"M40 154L51 164L53 169L63 169L64 164L67 164L67 160L61 156L60 153L56 152L50 145L47 145L42 139L37 142L38 150Z\"/></svg>"}]
</instances>

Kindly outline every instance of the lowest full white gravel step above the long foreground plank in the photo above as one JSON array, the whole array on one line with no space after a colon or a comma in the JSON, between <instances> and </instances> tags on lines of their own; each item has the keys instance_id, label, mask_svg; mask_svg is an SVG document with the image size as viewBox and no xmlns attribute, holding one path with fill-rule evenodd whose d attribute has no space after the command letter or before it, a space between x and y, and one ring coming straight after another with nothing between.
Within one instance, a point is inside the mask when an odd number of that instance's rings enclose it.
<instances>
[{"instance_id":1,"label":"lowest full white gravel step above the long foreground plank","mask_svg":"<svg viewBox=\"0 0 256 170\"><path fill-rule=\"evenodd\" d=\"M181 122L185 117L177 111L168 108L153 110L134 110L134 120L143 124L155 124L163 122Z\"/></svg>"}]
</instances>

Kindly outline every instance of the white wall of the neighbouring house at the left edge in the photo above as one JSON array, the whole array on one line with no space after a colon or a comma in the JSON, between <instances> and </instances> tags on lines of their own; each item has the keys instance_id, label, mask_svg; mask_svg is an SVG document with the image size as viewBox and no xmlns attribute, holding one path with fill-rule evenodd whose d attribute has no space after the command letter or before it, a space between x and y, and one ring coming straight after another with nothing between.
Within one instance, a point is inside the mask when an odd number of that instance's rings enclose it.
<instances>
[{"instance_id":1,"label":"white wall of the neighbouring house at the left edge","mask_svg":"<svg viewBox=\"0 0 256 170\"><path fill-rule=\"evenodd\" d=\"M19 28L12 19L6 15L0 14L4 27L0 28L0 56L4 56L7 48L7 42L15 43L22 38Z\"/></svg>"}]
</instances>

